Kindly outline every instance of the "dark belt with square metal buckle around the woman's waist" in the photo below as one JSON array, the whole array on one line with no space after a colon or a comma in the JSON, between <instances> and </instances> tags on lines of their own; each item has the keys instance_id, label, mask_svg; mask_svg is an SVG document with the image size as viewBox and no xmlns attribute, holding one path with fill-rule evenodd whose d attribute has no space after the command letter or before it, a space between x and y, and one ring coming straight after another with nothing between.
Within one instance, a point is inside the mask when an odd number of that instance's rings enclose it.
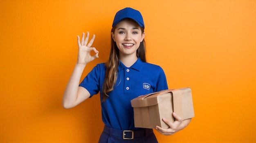
<instances>
[{"instance_id":1,"label":"dark belt with square metal buckle around the woman's waist","mask_svg":"<svg viewBox=\"0 0 256 143\"><path fill-rule=\"evenodd\" d=\"M146 137L148 134L153 133L153 129L139 129L139 130L117 130L111 127L104 126L104 130L106 134L115 137L122 137L123 139L133 139L137 137Z\"/></svg>"}]
</instances>

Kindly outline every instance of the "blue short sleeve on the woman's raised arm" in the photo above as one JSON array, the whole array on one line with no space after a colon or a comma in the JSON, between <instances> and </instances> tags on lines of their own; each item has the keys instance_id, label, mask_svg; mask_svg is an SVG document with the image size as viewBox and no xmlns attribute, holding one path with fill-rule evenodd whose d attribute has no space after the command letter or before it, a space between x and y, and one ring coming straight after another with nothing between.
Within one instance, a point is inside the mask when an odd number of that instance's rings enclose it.
<instances>
[{"instance_id":1,"label":"blue short sleeve on the woman's raised arm","mask_svg":"<svg viewBox=\"0 0 256 143\"><path fill-rule=\"evenodd\" d=\"M103 76L105 74L105 71L103 71L104 69L104 64L98 64L96 65L91 72L88 73L87 76L85 76L85 78L83 79L83 81L80 83L80 87L84 87L85 89L87 89L90 93L90 98L95 95L98 94L101 86L102 86L102 78L101 76Z\"/></svg>"}]
</instances>

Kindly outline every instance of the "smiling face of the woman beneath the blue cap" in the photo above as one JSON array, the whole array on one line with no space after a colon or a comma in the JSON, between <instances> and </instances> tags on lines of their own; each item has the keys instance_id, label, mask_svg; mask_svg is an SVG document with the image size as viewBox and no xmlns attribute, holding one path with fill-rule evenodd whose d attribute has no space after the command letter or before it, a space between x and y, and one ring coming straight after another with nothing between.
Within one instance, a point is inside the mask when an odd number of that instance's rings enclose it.
<instances>
[{"instance_id":1,"label":"smiling face of the woman beneath the blue cap","mask_svg":"<svg viewBox=\"0 0 256 143\"><path fill-rule=\"evenodd\" d=\"M124 56L136 57L136 50L145 37L145 32L141 32L139 24L130 19L119 22L111 34L119 49L120 58Z\"/></svg>"}]
</instances>

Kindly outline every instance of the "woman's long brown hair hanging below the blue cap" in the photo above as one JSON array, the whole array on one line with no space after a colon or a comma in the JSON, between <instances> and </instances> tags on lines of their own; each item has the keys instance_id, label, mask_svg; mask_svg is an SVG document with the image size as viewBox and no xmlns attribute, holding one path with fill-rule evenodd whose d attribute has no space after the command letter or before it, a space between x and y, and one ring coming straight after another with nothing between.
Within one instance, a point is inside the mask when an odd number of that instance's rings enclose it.
<instances>
[{"instance_id":1,"label":"woman's long brown hair hanging below the blue cap","mask_svg":"<svg viewBox=\"0 0 256 143\"><path fill-rule=\"evenodd\" d=\"M115 32L116 26L111 29L111 32ZM141 32L144 33L144 28L141 27ZM146 43L145 40L140 43L139 48L137 49L137 57L141 59L141 61L146 62ZM117 72L119 65L119 49L117 48L117 44L111 36L111 49L109 54L109 59L105 63L106 66L106 74L105 80L103 82L103 100L105 101L109 95L108 93L114 89L114 86L117 81Z\"/></svg>"}]
</instances>

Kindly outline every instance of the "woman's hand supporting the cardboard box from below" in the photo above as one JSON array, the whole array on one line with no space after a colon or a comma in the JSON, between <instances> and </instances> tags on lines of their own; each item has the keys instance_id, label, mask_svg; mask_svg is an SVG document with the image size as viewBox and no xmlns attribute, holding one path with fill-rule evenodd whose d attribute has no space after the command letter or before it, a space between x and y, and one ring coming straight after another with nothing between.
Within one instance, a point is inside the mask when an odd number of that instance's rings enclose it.
<instances>
[{"instance_id":1,"label":"woman's hand supporting the cardboard box from below","mask_svg":"<svg viewBox=\"0 0 256 143\"><path fill-rule=\"evenodd\" d=\"M173 135L175 134L176 132L184 129L186 126L189 125L190 121L191 121L191 118L190 119L186 119L186 120L183 120L182 121L182 118L178 115L176 115L174 112L173 112L173 117L175 118L175 121L173 123L171 123L171 121L163 118L163 121L168 125L170 126L169 128L167 129L164 129L164 128L161 128L159 126L156 126L156 130L158 132L160 132L161 134L164 134L166 136L169 136L169 135Z\"/></svg>"}]
</instances>

